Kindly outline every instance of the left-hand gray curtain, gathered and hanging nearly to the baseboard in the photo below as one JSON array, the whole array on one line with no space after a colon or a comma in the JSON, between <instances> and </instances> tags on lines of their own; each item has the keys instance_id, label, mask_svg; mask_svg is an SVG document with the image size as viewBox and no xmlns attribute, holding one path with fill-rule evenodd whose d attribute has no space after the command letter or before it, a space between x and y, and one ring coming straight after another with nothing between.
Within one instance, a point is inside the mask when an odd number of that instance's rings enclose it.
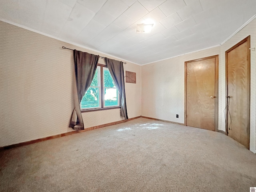
<instances>
[{"instance_id":1,"label":"left-hand gray curtain, gathered and hanging nearly to the baseboard","mask_svg":"<svg viewBox=\"0 0 256 192\"><path fill-rule=\"evenodd\" d=\"M73 110L70 125L74 130L83 130L84 122L80 109L80 102L90 87L94 78L99 56L74 50L75 85L73 86L75 108Z\"/></svg>"}]
</instances>

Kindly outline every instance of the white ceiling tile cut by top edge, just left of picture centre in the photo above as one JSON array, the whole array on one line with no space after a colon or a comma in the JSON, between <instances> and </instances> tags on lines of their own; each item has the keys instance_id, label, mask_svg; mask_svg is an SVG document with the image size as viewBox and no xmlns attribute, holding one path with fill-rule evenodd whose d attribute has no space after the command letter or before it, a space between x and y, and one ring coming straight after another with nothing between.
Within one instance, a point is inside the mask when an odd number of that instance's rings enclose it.
<instances>
[{"instance_id":1,"label":"white ceiling tile cut by top edge, just left of picture centre","mask_svg":"<svg viewBox=\"0 0 256 192\"><path fill-rule=\"evenodd\" d=\"M104 11L112 16L114 16L115 18L117 18L118 16L120 16L126 9L128 8L128 6L126 4L124 4L124 2L122 2L121 0L108 0L100 9L101 11Z\"/></svg>"}]
</instances>

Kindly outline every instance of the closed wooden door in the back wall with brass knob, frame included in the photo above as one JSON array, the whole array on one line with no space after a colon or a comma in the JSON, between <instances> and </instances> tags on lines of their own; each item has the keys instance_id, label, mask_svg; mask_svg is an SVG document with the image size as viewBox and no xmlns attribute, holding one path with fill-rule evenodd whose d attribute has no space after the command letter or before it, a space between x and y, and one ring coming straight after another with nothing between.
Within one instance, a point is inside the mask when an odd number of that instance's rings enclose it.
<instances>
[{"instance_id":1,"label":"closed wooden door in the back wall with brass knob, frame included","mask_svg":"<svg viewBox=\"0 0 256 192\"><path fill-rule=\"evenodd\" d=\"M217 130L218 55L185 62L187 126Z\"/></svg>"}]
</instances>

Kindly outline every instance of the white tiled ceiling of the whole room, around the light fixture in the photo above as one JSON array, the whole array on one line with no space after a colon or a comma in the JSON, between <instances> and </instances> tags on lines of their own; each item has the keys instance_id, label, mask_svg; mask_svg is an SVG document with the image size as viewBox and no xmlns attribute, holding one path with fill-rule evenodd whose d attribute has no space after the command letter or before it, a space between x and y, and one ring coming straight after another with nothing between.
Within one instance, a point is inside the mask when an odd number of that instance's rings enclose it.
<instances>
[{"instance_id":1,"label":"white tiled ceiling of the whole room, around the light fixture","mask_svg":"<svg viewBox=\"0 0 256 192\"><path fill-rule=\"evenodd\" d=\"M255 14L256 0L0 0L4 22L136 64L219 45Z\"/></svg>"}]
</instances>

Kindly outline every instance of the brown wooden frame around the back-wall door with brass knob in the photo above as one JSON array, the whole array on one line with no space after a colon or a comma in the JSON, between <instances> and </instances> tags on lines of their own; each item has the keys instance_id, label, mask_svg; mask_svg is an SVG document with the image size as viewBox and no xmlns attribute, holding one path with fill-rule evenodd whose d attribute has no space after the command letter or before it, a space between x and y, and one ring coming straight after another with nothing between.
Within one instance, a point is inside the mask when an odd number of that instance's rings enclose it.
<instances>
[{"instance_id":1,"label":"brown wooden frame around the back-wall door with brass knob","mask_svg":"<svg viewBox=\"0 0 256 192\"><path fill-rule=\"evenodd\" d=\"M214 131L218 131L218 76L219 76L219 55L204 57L200 59L185 61L185 102L184 102L184 124L187 126L187 64L206 59L215 58L215 106L214 106Z\"/></svg>"}]
</instances>

